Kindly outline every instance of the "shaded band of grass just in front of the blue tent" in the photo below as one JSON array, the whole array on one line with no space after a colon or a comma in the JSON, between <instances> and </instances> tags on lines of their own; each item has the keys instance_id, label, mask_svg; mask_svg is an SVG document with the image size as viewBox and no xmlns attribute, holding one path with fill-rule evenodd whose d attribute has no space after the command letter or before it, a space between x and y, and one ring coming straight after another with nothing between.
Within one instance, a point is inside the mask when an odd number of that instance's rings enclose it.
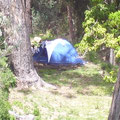
<instances>
[{"instance_id":1,"label":"shaded band of grass just in front of the blue tent","mask_svg":"<svg viewBox=\"0 0 120 120\"><path fill-rule=\"evenodd\" d=\"M69 87L77 94L99 96L112 94L113 84L103 80L97 66L67 67L66 69L45 66L37 68L37 71L48 83Z\"/></svg>"}]
</instances>

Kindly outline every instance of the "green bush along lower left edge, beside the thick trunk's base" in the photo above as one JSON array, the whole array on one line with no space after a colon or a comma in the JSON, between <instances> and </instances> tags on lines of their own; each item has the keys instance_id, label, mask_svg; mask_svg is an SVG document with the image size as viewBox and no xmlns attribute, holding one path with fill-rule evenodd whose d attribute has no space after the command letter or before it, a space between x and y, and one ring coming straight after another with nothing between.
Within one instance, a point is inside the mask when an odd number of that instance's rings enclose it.
<instances>
[{"instance_id":1,"label":"green bush along lower left edge, beside the thick trunk's base","mask_svg":"<svg viewBox=\"0 0 120 120\"><path fill-rule=\"evenodd\" d=\"M15 77L7 64L7 58L0 58L0 120L9 120L8 92L10 86L15 86Z\"/></svg>"}]
</instances>

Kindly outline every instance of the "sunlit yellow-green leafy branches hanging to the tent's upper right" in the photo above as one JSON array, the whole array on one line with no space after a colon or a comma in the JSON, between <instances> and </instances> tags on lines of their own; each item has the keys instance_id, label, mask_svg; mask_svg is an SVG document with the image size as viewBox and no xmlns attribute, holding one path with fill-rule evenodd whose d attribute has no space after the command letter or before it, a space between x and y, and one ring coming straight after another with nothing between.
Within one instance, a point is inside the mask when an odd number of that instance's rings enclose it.
<instances>
[{"instance_id":1,"label":"sunlit yellow-green leafy branches hanging to the tent's upper right","mask_svg":"<svg viewBox=\"0 0 120 120\"><path fill-rule=\"evenodd\" d=\"M109 25L107 20L109 14L114 11L114 5L106 5L105 3L99 3L90 10L86 10L85 21L83 22L85 34L82 44L87 43L86 47L89 50L96 50L103 44L109 44L112 34L108 32Z\"/></svg>"}]
</instances>

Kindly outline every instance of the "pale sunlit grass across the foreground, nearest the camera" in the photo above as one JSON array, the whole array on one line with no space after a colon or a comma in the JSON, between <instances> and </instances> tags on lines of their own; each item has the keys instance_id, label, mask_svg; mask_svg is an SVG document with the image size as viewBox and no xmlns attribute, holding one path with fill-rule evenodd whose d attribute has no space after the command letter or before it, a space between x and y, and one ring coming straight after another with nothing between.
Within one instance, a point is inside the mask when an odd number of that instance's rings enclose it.
<instances>
[{"instance_id":1,"label":"pale sunlit grass across the foreground, nearest the camera","mask_svg":"<svg viewBox=\"0 0 120 120\"><path fill-rule=\"evenodd\" d=\"M14 94L23 108L11 102L13 110L20 114L32 113L39 120L107 120L111 104L111 97L107 96L77 95L71 99L48 91L33 91L26 95L26 100L25 94L12 90L10 101ZM26 108L29 108L28 111Z\"/></svg>"}]
</instances>

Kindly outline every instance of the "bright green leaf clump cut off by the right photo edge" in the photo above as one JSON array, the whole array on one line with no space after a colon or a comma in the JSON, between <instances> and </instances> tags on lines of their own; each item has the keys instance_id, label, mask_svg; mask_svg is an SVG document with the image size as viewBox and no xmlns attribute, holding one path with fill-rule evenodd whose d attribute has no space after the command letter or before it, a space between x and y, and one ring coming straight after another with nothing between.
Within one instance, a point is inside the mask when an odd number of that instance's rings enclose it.
<instances>
[{"instance_id":1,"label":"bright green leaf clump cut off by the right photo edge","mask_svg":"<svg viewBox=\"0 0 120 120\"><path fill-rule=\"evenodd\" d=\"M109 47L115 49L116 57L120 57L120 11L111 13L108 18L109 33L111 39L107 42Z\"/></svg>"}]
</instances>

